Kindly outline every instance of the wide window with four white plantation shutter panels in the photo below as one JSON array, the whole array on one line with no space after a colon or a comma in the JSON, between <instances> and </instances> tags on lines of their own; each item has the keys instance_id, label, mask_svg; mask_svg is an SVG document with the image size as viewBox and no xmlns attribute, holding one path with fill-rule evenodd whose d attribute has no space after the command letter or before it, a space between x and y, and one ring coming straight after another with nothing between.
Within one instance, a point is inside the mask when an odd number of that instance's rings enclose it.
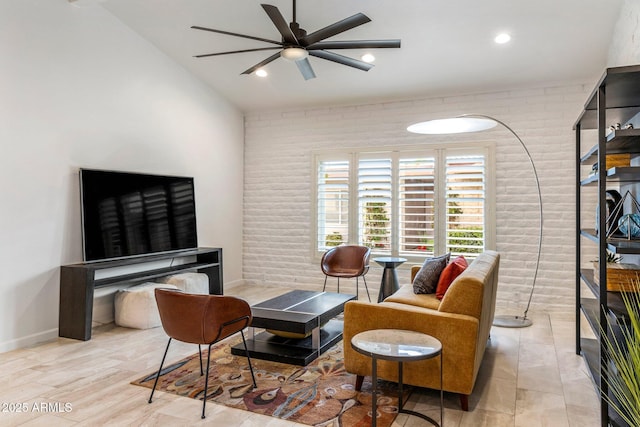
<instances>
[{"instance_id":1,"label":"wide window with four white plantation shutter panels","mask_svg":"<svg viewBox=\"0 0 640 427\"><path fill-rule=\"evenodd\" d=\"M474 258L495 242L492 153L429 145L316 154L315 253L357 244L414 262L446 252Z\"/></svg>"}]
</instances>

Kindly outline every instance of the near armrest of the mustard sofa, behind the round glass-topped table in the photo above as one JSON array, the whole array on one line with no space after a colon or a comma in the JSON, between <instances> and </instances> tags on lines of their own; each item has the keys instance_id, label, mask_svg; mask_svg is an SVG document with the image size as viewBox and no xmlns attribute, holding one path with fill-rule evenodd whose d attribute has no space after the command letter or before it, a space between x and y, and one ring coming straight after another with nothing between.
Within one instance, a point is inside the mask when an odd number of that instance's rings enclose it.
<instances>
[{"instance_id":1,"label":"near armrest of the mustard sofa, behind the round glass-topped table","mask_svg":"<svg viewBox=\"0 0 640 427\"><path fill-rule=\"evenodd\" d=\"M405 329L431 335L442 343L444 389L470 394L475 381L478 319L456 313L384 302L350 301L344 310L345 369L356 375L371 375L371 359L351 348L351 338L372 329ZM397 363L379 361L378 376L397 381ZM407 363L405 382L438 388L437 359Z\"/></svg>"}]
</instances>

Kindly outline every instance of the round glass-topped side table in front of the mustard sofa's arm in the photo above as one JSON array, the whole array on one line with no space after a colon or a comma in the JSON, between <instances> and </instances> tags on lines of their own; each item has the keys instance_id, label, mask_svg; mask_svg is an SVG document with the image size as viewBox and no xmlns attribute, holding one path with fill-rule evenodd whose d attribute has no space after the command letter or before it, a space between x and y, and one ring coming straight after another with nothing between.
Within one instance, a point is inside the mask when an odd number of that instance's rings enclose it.
<instances>
[{"instance_id":1,"label":"round glass-topped side table in front of the mustard sofa's arm","mask_svg":"<svg viewBox=\"0 0 640 427\"><path fill-rule=\"evenodd\" d=\"M444 393L442 390L442 343L431 335L401 329L374 329L356 334L351 338L351 347L358 353L371 358L371 425L376 427L377 418L377 361L378 359L398 362L398 413L414 415L429 421L437 427L443 425ZM402 365L404 362L440 359L440 424L431 417L415 411L403 409Z\"/></svg>"}]
</instances>

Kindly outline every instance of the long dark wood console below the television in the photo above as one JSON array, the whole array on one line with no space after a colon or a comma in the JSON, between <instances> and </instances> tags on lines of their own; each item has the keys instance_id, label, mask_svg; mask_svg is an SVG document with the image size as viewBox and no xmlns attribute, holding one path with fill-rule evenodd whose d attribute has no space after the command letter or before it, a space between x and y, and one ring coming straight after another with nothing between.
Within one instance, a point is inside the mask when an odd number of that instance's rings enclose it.
<instances>
[{"instance_id":1,"label":"long dark wood console below the television","mask_svg":"<svg viewBox=\"0 0 640 427\"><path fill-rule=\"evenodd\" d=\"M187 263L170 267L145 269L135 273L96 278L96 272L117 269L136 264L168 259L193 258ZM198 248L188 251L149 255L112 261L99 261L63 265L60 267L60 314L58 335L65 338L88 341L91 339L93 319L93 290L95 288L136 284L173 273L197 271L209 276L209 293L223 294L222 249Z\"/></svg>"}]
</instances>

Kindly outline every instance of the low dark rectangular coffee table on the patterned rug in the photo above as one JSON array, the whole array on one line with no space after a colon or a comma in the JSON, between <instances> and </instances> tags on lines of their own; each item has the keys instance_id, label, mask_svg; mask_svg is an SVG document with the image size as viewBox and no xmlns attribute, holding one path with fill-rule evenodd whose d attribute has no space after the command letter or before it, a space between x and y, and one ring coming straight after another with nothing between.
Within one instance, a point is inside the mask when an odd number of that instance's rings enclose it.
<instances>
[{"instance_id":1,"label":"low dark rectangular coffee table on the patterned rug","mask_svg":"<svg viewBox=\"0 0 640 427\"><path fill-rule=\"evenodd\" d=\"M347 301L355 299L355 295L296 290L252 306L249 354L256 359L308 365L342 339L342 321L334 317L344 311ZM276 333L256 334L256 329ZM244 356L242 343L233 346L231 353Z\"/></svg>"}]
</instances>

